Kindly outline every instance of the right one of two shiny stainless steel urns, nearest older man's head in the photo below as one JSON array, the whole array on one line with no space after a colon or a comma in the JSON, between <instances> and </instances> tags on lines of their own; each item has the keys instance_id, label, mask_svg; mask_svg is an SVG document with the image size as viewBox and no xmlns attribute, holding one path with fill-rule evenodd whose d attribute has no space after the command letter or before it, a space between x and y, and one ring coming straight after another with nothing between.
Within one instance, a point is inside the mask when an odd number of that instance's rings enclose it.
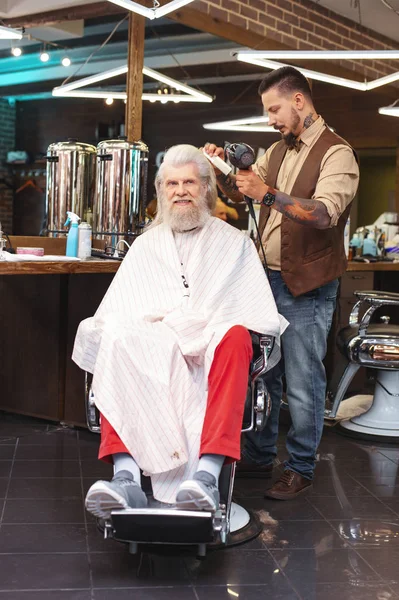
<instances>
[{"instance_id":1,"label":"right one of two shiny stainless steel urns, nearest older man's head","mask_svg":"<svg viewBox=\"0 0 399 600\"><path fill-rule=\"evenodd\" d=\"M97 146L97 184L93 209L93 237L115 246L131 243L145 224L148 147L127 138Z\"/></svg>"}]
</instances>

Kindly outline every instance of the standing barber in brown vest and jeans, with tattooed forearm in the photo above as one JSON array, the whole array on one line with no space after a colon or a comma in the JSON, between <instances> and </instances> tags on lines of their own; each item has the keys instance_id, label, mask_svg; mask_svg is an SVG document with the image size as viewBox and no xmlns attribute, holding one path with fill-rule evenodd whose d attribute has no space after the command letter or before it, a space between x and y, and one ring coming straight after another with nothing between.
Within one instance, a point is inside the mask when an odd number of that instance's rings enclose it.
<instances>
[{"instance_id":1,"label":"standing barber in brown vest and jeans, with tattooed forearm","mask_svg":"<svg viewBox=\"0 0 399 600\"><path fill-rule=\"evenodd\" d=\"M282 140L252 169L235 177L216 174L219 188L231 200L242 202L245 195L261 204L259 232L270 284L279 313L290 323L282 337L284 357L267 379L272 413L262 432L247 435L239 471L272 475L285 373L292 418L289 458L265 495L289 500L313 480L326 397L323 359L338 277L347 265L344 229L359 169L353 149L317 114L308 81L298 70L272 71L261 82L259 95ZM205 151L224 157L223 148L214 144L206 144Z\"/></svg>"}]
</instances>

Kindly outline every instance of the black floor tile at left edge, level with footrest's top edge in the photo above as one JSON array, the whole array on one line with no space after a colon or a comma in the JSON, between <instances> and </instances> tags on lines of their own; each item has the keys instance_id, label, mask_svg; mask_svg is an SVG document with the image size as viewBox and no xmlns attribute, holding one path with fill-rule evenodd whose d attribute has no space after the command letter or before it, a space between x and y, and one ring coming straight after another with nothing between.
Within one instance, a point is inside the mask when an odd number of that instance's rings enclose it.
<instances>
[{"instance_id":1,"label":"black floor tile at left edge, level with footrest's top edge","mask_svg":"<svg viewBox=\"0 0 399 600\"><path fill-rule=\"evenodd\" d=\"M84 523L83 501L35 498L6 501L3 523Z\"/></svg>"}]
</instances>

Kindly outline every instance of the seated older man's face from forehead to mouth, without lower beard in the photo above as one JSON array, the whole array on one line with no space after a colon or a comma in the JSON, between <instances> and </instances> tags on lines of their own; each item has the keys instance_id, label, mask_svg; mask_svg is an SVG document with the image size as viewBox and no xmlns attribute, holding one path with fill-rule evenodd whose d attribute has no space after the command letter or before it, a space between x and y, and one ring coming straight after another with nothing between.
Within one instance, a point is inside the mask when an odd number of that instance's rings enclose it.
<instances>
[{"instance_id":1,"label":"seated older man's face from forehead to mouth, without lower beard","mask_svg":"<svg viewBox=\"0 0 399 600\"><path fill-rule=\"evenodd\" d=\"M198 205L201 197L201 181L196 165L169 167L164 185L169 211L184 214Z\"/></svg>"}]
</instances>

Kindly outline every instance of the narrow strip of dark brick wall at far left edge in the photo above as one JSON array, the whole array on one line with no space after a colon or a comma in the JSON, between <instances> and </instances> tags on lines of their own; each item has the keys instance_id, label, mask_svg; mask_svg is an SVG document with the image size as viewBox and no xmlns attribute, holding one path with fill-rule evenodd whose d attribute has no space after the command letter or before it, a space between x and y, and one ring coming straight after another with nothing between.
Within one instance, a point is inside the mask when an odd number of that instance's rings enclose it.
<instances>
[{"instance_id":1,"label":"narrow strip of dark brick wall at far left edge","mask_svg":"<svg viewBox=\"0 0 399 600\"><path fill-rule=\"evenodd\" d=\"M15 146L15 106L0 98L0 180L10 181L5 167L7 152ZM13 194L12 190L0 183L0 222L7 233L12 233Z\"/></svg>"}]
</instances>

